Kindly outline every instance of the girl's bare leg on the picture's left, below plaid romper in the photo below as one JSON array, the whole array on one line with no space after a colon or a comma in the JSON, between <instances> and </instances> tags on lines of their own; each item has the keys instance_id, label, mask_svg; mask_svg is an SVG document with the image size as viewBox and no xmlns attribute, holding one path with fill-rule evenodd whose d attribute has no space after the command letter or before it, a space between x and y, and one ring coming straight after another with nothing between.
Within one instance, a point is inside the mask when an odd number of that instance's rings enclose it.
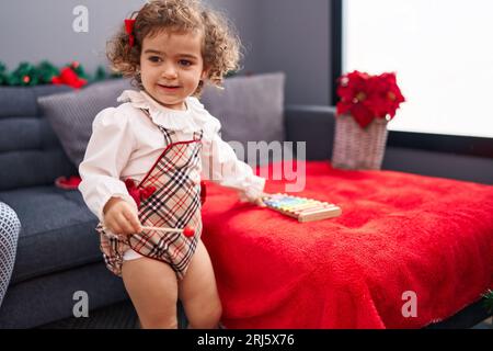
<instances>
[{"instance_id":1,"label":"girl's bare leg on the picture's left, below plaid romper","mask_svg":"<svg viewBox=\"0 0 493 351\"><path fill-rule=\"evenodd\" d=\"M125 261L122 276L142 328L177 328L177 282L169 264L149 258Z\"/></svg>"}]
</instances>

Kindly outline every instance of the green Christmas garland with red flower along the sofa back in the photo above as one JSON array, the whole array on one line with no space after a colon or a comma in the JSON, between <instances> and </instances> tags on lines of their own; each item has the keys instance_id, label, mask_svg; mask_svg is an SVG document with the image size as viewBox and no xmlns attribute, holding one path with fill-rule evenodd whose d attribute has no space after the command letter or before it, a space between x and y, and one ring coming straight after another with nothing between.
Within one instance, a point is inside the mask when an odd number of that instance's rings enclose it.
<instances>
[{"instance_id":1,"label":"green Christmas garland with red flower along the sofa back","mask_svg":"<svg viewBox=\"0 0 493 351\"><path fill-rule=\"evenodd\" d=\"M12 72L8 72L5 65L0 61L0 86L67 84L79 89L90 82L119 77L121 75L108 75L102 66L99 66L94 76L91 77L79 61L72 61L60 69L46 60L37 66L21 63Z\"/></svg>"}]
</instances>

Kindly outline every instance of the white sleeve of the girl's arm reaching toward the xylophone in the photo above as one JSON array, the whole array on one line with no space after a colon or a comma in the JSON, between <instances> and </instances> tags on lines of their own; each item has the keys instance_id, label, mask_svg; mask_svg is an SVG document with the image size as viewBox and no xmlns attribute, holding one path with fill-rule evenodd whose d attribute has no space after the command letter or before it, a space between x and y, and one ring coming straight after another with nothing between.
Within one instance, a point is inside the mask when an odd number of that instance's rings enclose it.
<instances>
[{"instance_id":1,"label":"white sleeve of the girl's arm reaching toward the xylophone","mask_svg":"<svg viewBox=\"0 0 493 351\"><path fill-rule=\"evenodd\" d=\"M236 189L242 200L254 201L264 191L265 179L239 160L234 150L219 135L220 123L214 118L211 135L202 152L203 177L222 186Z\"/></svg>"}]
</instances>

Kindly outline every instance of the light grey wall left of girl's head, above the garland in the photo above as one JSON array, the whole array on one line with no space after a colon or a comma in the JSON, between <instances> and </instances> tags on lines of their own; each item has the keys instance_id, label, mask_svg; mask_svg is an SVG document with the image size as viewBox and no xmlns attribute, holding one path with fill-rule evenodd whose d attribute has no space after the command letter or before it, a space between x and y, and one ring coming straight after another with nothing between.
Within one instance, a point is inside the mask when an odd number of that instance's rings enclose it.
<instances>
[{"instance_id":1,"label":"light grey wall left of girl's head, above the garland","mask_svg":"<svg viewBox=\"0 0 493 351\"><path fill-rule=\"evenodd\" d=\"M105 65L105 43L123 19L145 0L2 0L0 4L0 60L13 70L21 61L47 59L62 66L79 60L88 73ZM77 5L89 11L89 32L76 33Z\"/></svg>"}]
</instances>

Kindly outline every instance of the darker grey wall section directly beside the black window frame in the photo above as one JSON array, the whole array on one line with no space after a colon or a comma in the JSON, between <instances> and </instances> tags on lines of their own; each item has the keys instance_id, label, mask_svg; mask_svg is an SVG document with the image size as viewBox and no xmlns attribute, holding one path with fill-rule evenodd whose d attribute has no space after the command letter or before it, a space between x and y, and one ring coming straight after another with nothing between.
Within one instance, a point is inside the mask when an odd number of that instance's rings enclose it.
<instances>
[{"instance_id":1,"label":"darker grey wall section directly beside the black window frame","mask_svg":"<svg viewBox=\"0 0 493 351\"><path fill-rule=\"evenodd\" d=\"M330 101L330 9L326 0L264 0L259 71L287 72L289 104Z\"/></svg>"}]
</instances>

